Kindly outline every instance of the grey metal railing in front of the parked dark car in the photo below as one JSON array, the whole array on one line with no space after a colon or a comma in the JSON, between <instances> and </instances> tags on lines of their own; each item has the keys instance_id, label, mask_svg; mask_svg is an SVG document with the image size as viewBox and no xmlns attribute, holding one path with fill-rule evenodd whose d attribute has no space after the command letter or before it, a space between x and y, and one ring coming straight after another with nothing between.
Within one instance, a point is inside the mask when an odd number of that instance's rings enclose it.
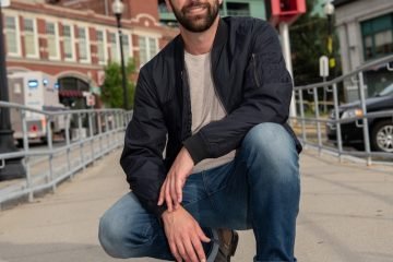
<instances>
[{"instance_id":1,"label":"grey metal railing in front of the parked dark car","mask_svg":"<svg viewBox=\"0 0 393 262\"><path fill-rule=\"evenodd\" d=\"M290 121L302 144L306 147L311 146L317 148L320 154L323 152L333 153L338 156L341 160L343 159L343 156L355 156L359 157L359 159L364 159L367 165L371 165L372 162L391 163L393 153L373 151L370 138L374 132L373 123L376 122L376 119L390 119L393 124L393 110L367 111L365 72L384 66L386 66L388 72L390 72L392 69L389 64L392 61L393 56L389 56L366 63L348 74L335 78L327 82L296 86L294 88L295 97L297 102L297 111L300 116L290 118ZM340 107L340 104L344 99L343 97L340 97L340 94L342 93L340 91L343 91L344 87L348 85L355 86L358 92L359 104L357 107L361 112L359 116L343 117L341 115L343 108ZM324 106L333 106L330 114L325 116L321 114L322 99L320 97L322 92L326 92L329 96L331 96L330 99L323 102ZM305 95L311 97L311 102L306 102ZM324 95L323 97L326 96ZM312 105L312 108L306 108L307 105ZM308 110L308 116L306 116L306 109ZM362 144L358 145L358 147L362 147L361 150L354 150L350 146L346 146L347 144L345 142L348 141L348 138L347 134L345 139L343 138L343 127L347 129L348 124L361 128ZM333 139L327 139L327 131Z\"/></svg>"}]
</instances>

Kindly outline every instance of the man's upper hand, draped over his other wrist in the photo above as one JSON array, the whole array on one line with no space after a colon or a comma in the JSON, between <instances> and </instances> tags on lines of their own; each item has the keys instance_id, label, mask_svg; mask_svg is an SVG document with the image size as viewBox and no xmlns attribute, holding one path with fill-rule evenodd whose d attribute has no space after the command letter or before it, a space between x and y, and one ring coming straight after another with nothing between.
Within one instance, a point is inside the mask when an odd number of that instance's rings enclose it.
<instances>
[{"instance_id":1,"label":"man's upper hand, draped over his other wrist","mask_svg":"<svg viewBox=\"0 0 393 262\"><path fill-rule=\"evenodd\" d=\"M164 204L165 201L169 212L172 211L172 207L175 210L179 207L182 201L182 188L193 166L190 154L186 147L182 147L160 188L158 205Z\"/></svg>"}]
</instances>

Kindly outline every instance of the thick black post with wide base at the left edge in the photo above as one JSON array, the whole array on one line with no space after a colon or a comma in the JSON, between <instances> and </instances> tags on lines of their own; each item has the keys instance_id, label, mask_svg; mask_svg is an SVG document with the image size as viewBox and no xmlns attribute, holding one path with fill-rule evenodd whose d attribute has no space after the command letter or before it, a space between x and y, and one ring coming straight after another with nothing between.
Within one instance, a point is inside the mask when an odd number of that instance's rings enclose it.
<instances>
[{"instance_id":1,"label":"thick black post with wide base at the left edge","mask_svg":"<svg viewBox=\"0 0 393 262\"><path fill-rule=\"evenodd\" d=\"M0 4L0 100L8 102L8 80L5 69L5 48L3 36L3 16ZM11 130L10 110L0 108L0 154L16 152L13 131ZM0 162L0 181L23 178L26 171L21 163L22 157Z\"/></svg>"}]
</instances>

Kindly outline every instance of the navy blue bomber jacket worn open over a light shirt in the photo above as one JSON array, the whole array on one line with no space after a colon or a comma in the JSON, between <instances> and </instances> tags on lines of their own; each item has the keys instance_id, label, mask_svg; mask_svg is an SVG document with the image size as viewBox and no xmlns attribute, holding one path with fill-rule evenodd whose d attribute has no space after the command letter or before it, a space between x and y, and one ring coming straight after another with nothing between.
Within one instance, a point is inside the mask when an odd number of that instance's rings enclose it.
<instances>
[{"instance_id":1,"label":"navy blue bomber jacket worn open over a light shirt","mask_svg":"<svg viewBox=\"0 0 393 262\"><path fill-rule=\"evenodd\" d=\"M277 34L269 23L250 17L221 19L211 61L216 94L228 115L194 135L181 36L140 71L120 164L131 190L157 216L166 209L157 206L160 186L182 146L196 164L238 148L252 127L275 122L286 128L301 151L286 123L293 81Z\"/></svg>"}]
</instances>

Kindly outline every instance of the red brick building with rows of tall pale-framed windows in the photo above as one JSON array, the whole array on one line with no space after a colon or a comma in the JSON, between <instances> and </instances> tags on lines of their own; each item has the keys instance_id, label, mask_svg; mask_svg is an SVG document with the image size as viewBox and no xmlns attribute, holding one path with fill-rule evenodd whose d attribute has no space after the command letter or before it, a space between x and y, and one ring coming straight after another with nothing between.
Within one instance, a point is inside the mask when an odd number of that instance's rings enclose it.
<instances>
[{"instance_id":1,"label":"red brick building with rows of tall pale-framed windows","mask_svg":"<svg viewBox=\"0 0 393 262\"><path fill-rule=\"evenodd\" d=\"M178 32L159 24L156 0L123 0L124 58L142 66ZM120 62L111 0L12 0L3 9L8 73L41 71L60 98L100 93L108 61ZM72 91L72 92L69 92Z\"/></svg>"}]
</instances>

